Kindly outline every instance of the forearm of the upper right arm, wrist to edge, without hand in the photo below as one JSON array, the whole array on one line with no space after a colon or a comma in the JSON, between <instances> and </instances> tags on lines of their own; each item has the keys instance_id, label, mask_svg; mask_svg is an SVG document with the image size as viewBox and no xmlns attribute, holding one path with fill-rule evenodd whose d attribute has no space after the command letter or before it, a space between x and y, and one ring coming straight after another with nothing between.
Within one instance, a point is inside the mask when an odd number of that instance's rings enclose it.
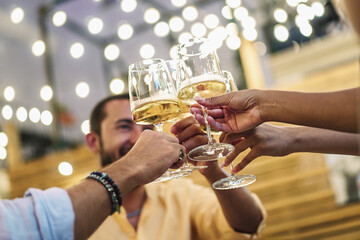
<instances>
[{"instance_id":1,"label":"forearm of the upper right arm, wrist to edge, without hand","mask_svg":"<svg viewBox=\"0 0 360 240\"><path fill-rule=\"evenodd\" d=\"M358 132L357 91L304 93L258 91L264 121L277 121L345 132Z\"/></svg>"}]
</instances>

